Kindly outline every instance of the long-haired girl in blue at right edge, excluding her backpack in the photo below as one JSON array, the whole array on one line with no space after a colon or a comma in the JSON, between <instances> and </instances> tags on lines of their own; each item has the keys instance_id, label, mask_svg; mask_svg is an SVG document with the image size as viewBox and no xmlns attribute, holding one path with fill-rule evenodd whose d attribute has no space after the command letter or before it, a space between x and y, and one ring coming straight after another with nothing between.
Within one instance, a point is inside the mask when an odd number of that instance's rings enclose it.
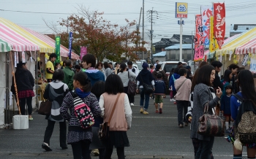
<instances>
[{"instance_id":1,"label":"long-haired girl in blue at right edge, excluding her backpack","mask_svg":"<svg viewBox=\"0 0 256 159\"><path fill-rule=\"evenodd\" d=\"M240 92L238 92L236 95L241 96L244 99L252 100L253 104L256 104L256 92L255 92L255 82L252 77L252 72L249 70L242 70L238 74L238 85L240 87ZM231 117L233 120L237 119L238 115L238 109L241 104L241 101L236 98L236 96L231 96L230 100L230 107L231 107ZM231 130L230 132L232 132ZM235 140L235 135L229 136L231 139ZM231 140L231 142L233 142ZM247 158L255 158L256 153L256 143L243 143L244 146L246 146L247 149ZM236 145L236 143L235 143ZM233 158L241 159L242 158L242 151L238 150L236 147L233 147Z\"/></svg>"}]
</instances>

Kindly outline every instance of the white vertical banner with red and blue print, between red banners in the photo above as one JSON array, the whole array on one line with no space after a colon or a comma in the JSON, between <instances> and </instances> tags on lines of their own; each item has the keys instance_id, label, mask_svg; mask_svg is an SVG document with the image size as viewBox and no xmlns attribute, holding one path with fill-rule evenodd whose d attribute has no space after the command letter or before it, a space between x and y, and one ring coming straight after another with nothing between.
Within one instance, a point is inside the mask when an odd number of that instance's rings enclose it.
<instances>
[{"instance_id":1,"label":"white vertical banner with red and blue print, between red banners","mask_svg":"<svg viewBox=\"0 0 256 159\"><path fill-rule=\"evenodd\" d=\"M210 17L212 14L211 6L202 6L203 39L205 46L210 44Z\"/></svg>"}]
</instances>

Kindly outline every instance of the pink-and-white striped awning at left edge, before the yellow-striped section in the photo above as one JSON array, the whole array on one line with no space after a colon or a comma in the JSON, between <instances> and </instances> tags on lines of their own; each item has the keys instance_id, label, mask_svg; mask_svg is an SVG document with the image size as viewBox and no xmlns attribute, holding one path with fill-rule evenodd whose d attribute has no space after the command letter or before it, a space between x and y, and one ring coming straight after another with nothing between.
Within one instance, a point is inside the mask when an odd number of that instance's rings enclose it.
<instances>
[{"instance_id":1,"label":"pink-and-white striped awning at left edge, before the yellow-striped section","mask_svg":"<svg viewBox=\"0 0 256 159\"><path fill-rule=\"evenodd\" d=\"M37 51L39 46L24 38L16 31L0 23L0 39L8 42L12 46L13 51Z\"/></svg>"}]
</instances>

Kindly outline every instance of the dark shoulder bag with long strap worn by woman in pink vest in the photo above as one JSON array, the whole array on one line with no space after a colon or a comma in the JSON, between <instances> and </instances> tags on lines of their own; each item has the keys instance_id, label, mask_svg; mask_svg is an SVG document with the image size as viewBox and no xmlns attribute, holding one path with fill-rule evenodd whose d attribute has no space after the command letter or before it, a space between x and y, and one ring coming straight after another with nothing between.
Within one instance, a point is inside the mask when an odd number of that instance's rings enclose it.
<instances>
[{"instance_id":1,"label":"dark shoulder bag with long strap worn by woman in pink vest","mask_svg":"<svg viewBox=\"0 0 256 159\"><path fill-rule=\"evenodd\" d=\"M112 109L112 112L111 112L110 117L108 119L108 122L103 122L102 124L99 124L99 133L98 133L98 135L99 135L99 140L101 140L101 141L108 141L110 121L111 121L113 113L116 109L116 104L117 104L117 101L118 101L118 98L119 98L120 95L121 95L121 93L118 93L118 96L116 98L116 102L113 106L113 109Z\"/></svg>"}]
</instances>

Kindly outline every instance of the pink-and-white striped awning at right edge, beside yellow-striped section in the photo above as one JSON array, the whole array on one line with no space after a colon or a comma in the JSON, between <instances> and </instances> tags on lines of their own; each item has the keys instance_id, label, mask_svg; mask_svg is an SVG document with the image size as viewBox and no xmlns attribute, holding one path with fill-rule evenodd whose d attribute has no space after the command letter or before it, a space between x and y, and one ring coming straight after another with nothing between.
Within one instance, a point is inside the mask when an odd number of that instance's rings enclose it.
<instances>
[{"instance_id":1,"label":"pink-and-white striped awning at right edge, beside yellow-striped section","mask_svg":"<svg viewBox=\"0 0 256 159\"><path fill-rule=\"evenodd\" d=\"M236 54L247 54L256 53L256 38L251 39L249 42L241 45L241 47L236 47Z\"/></svg>"}]
</instances>

